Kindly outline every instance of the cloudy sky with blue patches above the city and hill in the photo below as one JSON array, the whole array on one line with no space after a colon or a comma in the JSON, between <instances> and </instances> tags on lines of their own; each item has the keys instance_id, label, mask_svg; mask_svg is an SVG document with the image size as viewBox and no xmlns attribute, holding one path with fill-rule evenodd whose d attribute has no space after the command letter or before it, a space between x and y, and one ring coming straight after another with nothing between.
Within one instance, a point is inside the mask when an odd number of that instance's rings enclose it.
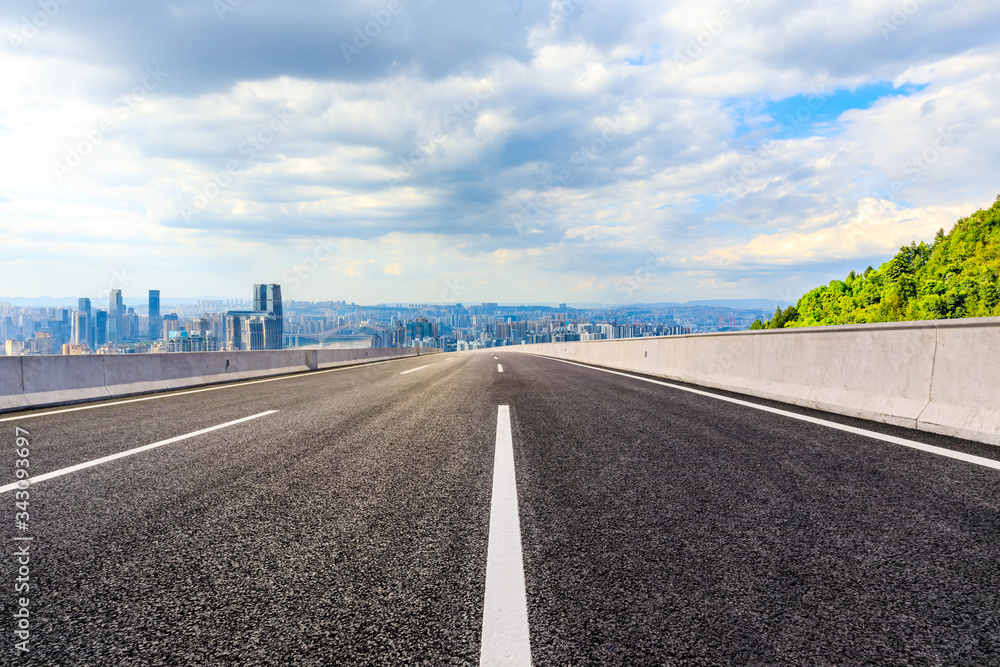
<instances>
[{"instance_id":1,"label":"cloudy sky with blue patches above the city and hill","mask_svg":"<svg viewBox=\"0 0 1000 667\"><path fill-rule=\"evenodd\" d=\"M996 0L7 0L0 294L794 300L992 204L998 35Z\"/></svg>"}]
</instances>

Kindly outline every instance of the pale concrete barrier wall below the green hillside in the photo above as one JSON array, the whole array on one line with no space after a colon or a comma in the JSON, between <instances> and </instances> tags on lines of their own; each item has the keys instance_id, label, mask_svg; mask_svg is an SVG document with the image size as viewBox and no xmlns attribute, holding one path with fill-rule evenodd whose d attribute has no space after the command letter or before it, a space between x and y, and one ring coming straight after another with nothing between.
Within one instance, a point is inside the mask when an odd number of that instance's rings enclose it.
<instances>
[{"instance_id":1,"label":"pale concrete barrier wall below the green hillside","mask_svg":"<svg viewBox=\"0 0 1000 667\"><path fill-rule=\"evenodd\" d=\"M504 348L1000 445L1000 318Z\"/></svg>"}]
</instances>

